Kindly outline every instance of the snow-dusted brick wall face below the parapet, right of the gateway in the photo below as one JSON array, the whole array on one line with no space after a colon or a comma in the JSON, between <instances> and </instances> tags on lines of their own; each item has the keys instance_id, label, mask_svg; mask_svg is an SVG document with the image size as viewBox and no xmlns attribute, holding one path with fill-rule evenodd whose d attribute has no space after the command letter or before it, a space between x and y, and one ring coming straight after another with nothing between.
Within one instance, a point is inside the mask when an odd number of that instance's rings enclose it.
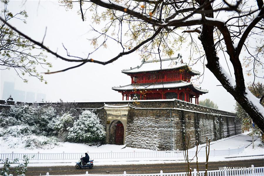
<instances>
[{"instance_id":1,"label":"snow-dusted brick wall face below the parapet, right of the gateway","mask_svg":"<svg viewBox=\"0 0 264 176\"><path fill-rule=\"evenodd\" d=\"M131 109L128 114L126 145L151 150L183 150L196 141L206 143L241 133L235 117L207 114L185 109ZM186 138L185 138L186 136Z\"/></svg>"}]
</instances>

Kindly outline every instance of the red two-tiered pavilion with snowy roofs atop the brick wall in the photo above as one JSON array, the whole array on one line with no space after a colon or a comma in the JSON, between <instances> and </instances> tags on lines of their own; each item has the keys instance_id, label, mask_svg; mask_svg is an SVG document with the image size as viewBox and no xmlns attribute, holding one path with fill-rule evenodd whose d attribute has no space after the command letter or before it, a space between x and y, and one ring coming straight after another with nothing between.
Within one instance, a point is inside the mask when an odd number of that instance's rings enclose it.
<instances>
[{"instance_id":1,"label":"red two-tiered pavilion with snowy roofs atop the brick wall","mask_svg":"<svg viewBox=\"0 0 264 176\"><path fill-rule=\"evenodd\" d=\"M199 96L208 91L192 84L191 78L200 75L182 62L182 56L176 58L143 61L140 66L122 70L131 77L131 84L112 87L122 93L123 100L136 97L140 100L180 99L199 104ZM130 97L130 98L129 98Z\"/></svg>"}]
</instances>

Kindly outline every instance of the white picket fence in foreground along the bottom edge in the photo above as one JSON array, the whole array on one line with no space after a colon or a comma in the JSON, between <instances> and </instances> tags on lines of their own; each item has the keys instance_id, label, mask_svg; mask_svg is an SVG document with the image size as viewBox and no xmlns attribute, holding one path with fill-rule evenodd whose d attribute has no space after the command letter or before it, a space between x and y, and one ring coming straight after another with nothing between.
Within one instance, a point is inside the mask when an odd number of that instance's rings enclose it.
<instances>
[{"instance_id":1,"label":"white picket fence in foreground along the bottom edge","mask_svg":"<svg viewBox=\"0 0 264 176\"><path fill-rule=\"evenodd\" d=\"M204 176L205 171L199 171L197 172L196 169L194 169L191 172L192 176ZM263 176L264 175L264 167L254 167L254 165L251 165L251 167L246 169L232 169L232 170L209 170L207 171L207 176ZM46 176L50 176L49 172L47 172ZM61 175L63 176L63 175ZM186 172L179 172L179 173L163 173L161 170L160 173L157 174L127 174L126 171L124 174L107 174L107 175L98 175L98 174L86 174L84 175L67 175L67 176L188 176Z\"/></svg>"}]
</instances>

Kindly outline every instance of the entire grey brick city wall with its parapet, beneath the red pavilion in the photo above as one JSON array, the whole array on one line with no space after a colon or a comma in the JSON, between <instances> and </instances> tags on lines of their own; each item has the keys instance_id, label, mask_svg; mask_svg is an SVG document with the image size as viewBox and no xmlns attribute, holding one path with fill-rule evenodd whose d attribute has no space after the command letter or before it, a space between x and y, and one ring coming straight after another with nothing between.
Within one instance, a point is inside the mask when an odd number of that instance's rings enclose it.
<instances>
[{"instance_id":1,"label":"entire grey brick city wall with its parapet, beneath the red pavilion","mask_svg":"<svg viewBox=\"0 0 264 176\"><path fill-rule=\"evenodd\" d=\"M16 105L13 102L12 105L2 103L0 110ZM21 102L17 104L19 103ZM240 124L235 123L236 114L177 99L105 102L108 105L128 103L131 105L127 116L125 140L128 147L182 150L185 140L188 140L188 134L189 147L194 147L196 141L205 143L206 137L215 141L241 133ZM104 102L76 102L73 106L79 110L96 109L106 129L107 113L102 108Z\"/></svg>"}]
</instances>

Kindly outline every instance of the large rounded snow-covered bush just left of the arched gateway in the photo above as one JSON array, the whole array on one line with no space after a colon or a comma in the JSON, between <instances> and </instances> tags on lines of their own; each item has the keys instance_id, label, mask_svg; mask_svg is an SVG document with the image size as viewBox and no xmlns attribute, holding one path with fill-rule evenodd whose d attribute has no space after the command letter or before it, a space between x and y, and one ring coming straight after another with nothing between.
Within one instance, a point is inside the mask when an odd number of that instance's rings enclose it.
<instances>
[{"instance_id":1,"label":"large rounded snow-covered bush just left of the arched gateway","mask_svg":"<svg viewBox=\"0 0 264 176\"><path fill-rule=\"evenodd\" d=\"M93 111L83 111L79 119L73 123L73 127L68 127L67 139L72 142L91 143L103 141L105 138L104 127Z\"/></svg>"}]
</instances>

